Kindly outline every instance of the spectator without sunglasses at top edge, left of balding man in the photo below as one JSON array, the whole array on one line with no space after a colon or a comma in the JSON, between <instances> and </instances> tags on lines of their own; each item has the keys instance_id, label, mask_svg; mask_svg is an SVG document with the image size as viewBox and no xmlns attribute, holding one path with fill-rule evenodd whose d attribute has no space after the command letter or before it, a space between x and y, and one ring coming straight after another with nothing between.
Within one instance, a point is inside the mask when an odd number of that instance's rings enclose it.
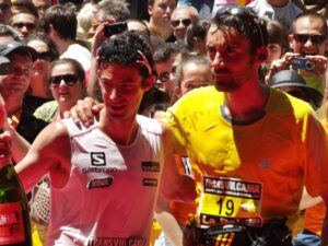
<instances>
[{"instance_id":1,"label":"spectator without sunglasses at top edge, left of balding man","mask_svg":"<svg viewBox=\"0 0 328 246\"><path fill-rule=\"evenodd\" d=\"M175 8L176 0L149 1L148 12L150 14L150 21L148 27L152 35L157 35L167 42L174 40L169 21Z\"/></svg>"}]
</instances>

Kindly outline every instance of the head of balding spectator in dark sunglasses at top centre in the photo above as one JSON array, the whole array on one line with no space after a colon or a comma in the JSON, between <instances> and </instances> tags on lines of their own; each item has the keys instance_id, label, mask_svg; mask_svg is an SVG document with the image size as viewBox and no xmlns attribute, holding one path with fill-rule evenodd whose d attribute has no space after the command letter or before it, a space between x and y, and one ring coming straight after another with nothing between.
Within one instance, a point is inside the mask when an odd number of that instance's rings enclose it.
<instances>
[{"instance_id":1,"label":"head of balding spectator in dark sunglasses at top centre","mask_svg":"<svg viewBox=\"0 0 328 246\"><path fill-rule=\"evenodd\" d=\"M198 11L194 7L177 7L171 15L171 26L176 40L184 43L187 27L197 20Z\"/></svg>"}]
</instances>

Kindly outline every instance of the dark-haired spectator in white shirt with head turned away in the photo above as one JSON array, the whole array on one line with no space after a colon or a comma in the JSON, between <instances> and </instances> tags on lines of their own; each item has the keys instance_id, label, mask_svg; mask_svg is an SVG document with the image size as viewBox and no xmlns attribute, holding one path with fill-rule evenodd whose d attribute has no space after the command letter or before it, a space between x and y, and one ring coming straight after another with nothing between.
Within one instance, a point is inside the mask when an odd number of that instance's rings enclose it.
<instances>
[{"instance_id":1,"label":"dark-haired spectator in white shirt with head turned away","mask_svg":"<svg viewBox=\"0 0 328 246\"><path fill-rule=\"evenodd\" d=\"M43 25L45 33L55 43L59 57L75 59L89 71L91 54L77 43L75 13L62 5L52 5L46 11Z\"/></svg>"}]
</instances>

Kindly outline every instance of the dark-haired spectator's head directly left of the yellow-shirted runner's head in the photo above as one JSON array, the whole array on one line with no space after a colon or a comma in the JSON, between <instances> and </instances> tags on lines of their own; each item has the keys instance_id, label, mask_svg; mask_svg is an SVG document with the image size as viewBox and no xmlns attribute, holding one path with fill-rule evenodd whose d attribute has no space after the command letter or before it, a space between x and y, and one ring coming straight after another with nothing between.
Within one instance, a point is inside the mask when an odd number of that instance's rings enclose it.
<instances>
[{"instance_id":1,"label":"dark-haired spectator's head directly left of the yellow-shirted runner's head","mask_svg":"<svg viewBox=\"0 0 328 246\"><path fill-rule=\"evenodd\" d=\"M186 47L191 52L206 55L206 37L210 22L208 20L198 20L191 23L186 31Z\"/></svg>"}]
</instances>

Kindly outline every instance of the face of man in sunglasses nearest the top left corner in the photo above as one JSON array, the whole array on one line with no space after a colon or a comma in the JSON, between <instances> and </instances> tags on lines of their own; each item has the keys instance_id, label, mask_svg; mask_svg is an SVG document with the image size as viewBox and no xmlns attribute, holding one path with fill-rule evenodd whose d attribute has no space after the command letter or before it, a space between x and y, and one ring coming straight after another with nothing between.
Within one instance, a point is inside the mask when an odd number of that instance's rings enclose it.
<instances>
[{"instance_id":1,"label":"face of man in sunglasses nearest the top left corner","mask_svg":"<svg viewBox=\"0 0 328 246\"><path fill-rule=\"evenodd\" d=\"M16 13L11 19L11 25L21 33L22 40L35 31L36 22L36 17L28 13Z\"/></svg>"}]
</instances>

